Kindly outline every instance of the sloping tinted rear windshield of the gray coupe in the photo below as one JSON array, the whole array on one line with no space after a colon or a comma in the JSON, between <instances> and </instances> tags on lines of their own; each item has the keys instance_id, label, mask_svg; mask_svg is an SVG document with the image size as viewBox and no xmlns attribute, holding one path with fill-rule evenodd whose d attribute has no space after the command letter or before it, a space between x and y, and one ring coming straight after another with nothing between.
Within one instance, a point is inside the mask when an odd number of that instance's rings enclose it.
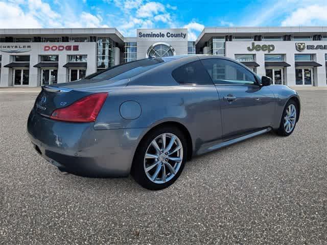
<instances>
[{"instance_id":1,"label":"sloping tinted rear windshield of the gray coupe","mask_svg":"<svg viewBox=\"0 0 327 245\"><path fill-rule=\"evenodd\" d=\"M147 70L150 70L162 64L163 62L165 62L165 60L161 58L136 60L123 65L111 67L104 71L99 71L95 74L85 77L85 79L112 80L112 82L122 79L128 79L137 76Z\"/></svg>"}]
</instances>

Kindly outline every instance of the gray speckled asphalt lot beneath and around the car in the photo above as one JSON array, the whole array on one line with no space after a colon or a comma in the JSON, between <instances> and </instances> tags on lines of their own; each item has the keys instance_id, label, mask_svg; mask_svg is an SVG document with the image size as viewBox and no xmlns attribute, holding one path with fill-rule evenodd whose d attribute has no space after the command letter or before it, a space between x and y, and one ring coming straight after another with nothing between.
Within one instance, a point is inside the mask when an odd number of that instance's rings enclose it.
<instances>
[{"instance_id":1,"label":"gray speckled asphalt lot beneath and around the car","mask_svg":"<svg viewBox=\"0 0 327 245\"><path fill-rule=\"evenodd\" d=\"M161 191L62 175L26 134L37 93L0 93L0 244L327 244L327 90L299 93L291 136L194 158Z\"/></svg>"}]
</instances>

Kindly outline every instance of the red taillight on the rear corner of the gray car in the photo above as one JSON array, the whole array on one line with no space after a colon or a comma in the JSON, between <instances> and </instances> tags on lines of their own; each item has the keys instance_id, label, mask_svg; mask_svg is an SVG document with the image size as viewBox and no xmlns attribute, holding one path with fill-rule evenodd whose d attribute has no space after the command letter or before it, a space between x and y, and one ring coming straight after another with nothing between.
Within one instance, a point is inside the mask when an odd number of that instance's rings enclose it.
<instances>
[{"instance_id":1,"label":"red taillight on the rear corner of the gray car","mask_svg":"<svg viewBox=\"0 0 327 245\"><path fill-rule=\"evenodd\" d=\"M54 110L50 118L74 122L95 121L107 96L108 93L88 95L69 106Z\"/></svg>"}]
</instances>

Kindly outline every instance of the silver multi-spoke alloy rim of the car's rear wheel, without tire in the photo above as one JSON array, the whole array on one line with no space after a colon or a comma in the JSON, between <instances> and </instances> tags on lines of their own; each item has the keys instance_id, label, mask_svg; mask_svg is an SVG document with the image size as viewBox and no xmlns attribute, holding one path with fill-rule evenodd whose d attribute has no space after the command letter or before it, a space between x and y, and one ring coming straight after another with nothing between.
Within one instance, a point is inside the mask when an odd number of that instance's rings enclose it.
<instances>
[{"instance_id":1,"label":"silver multi-spoke alloy rim of the car's rear wheel, without tire","mask_svg":"<svg viewBox=\"0 0 327 245\"><path fill-rule=\"evenodd\" d=\"M147 177L156 184L170 181L177 174L183 161L183 146L172 133L157 136L147 148L144 170Z\"/></svg>"}]
</instances>

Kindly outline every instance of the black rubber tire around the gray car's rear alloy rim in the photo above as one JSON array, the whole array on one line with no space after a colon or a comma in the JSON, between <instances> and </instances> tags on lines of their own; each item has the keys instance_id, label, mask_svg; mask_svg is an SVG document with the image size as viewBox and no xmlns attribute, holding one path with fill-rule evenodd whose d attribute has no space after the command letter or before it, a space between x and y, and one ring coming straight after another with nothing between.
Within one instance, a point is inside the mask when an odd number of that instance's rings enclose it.
<instances>
[{"instance_id":1,"label":"black rubber tire around the gray car's rear alloy rim","mask_svg":"<svg viewBox=\"0 0 327 245\"><path fill-rule=\"evenodd\" d=\"M156 137L158 137L164 133L174 134L175 136L177 136L179 138L179 140L182 144L183 158L182 158L180 167L179 167L178 171L176 172L175 176L165 183L158 184L158 183L154 183L153 181L151 181L148 178L146 171L145 171L145 163L144 163L145 160L144 159L145 159L146 151L148 150L148 147L151 144L151 142ZM160 190L160 189L167 188L168 186L173 184L178 179L178 177L180 176L180 174L184 168L186 158L188 155L186 146L187 146L187 144L186 144L185 136L182 133L182 131L180 131L178 128L169 127L169 126L155 128L154 130L150 131L139 143L139 145L135 151L132 168L131 168L131 175L133 176L133 178L135 179L135 181L138 184L140 184L141 186L143 186L146 189ZM162 175L162 173L161 173L161 175Z\"/></svg>"}]
</instances>

